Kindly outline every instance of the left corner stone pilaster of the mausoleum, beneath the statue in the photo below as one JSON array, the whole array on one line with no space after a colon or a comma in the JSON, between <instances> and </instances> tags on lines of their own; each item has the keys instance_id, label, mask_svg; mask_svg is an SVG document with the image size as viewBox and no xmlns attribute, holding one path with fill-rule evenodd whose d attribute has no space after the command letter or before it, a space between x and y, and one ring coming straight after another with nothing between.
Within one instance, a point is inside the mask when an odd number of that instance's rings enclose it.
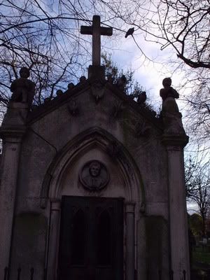
<instances>
[{"instance_id":1,"label":"left corner stone pilaster of the mausoleum, beneath the statue","mask_svg":"<svg viewBox=\"0 0 210 280\"><path fill-rule=\"evenodd\" d=\"M0 129L3 139L0 174L0 274L4 267L8 267L10 260L20 148L26 130L27 111L27 104L10 103Z\"/></svg>"}]
</instances>

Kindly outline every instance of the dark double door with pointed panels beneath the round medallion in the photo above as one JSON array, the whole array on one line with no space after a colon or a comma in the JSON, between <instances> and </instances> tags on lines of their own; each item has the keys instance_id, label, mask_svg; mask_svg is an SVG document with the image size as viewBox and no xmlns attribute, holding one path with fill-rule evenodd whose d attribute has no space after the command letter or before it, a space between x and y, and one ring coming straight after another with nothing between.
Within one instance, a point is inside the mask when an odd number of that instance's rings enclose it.
<instances>
[{"instance_id":1,"label":"dark double door with pointed panels beneath the round medallion","mask_svg":"<svg viewBox=\"0 0 210 280\"><path fill-rule=\"evenodd\" d=\"M123 200L62 197L60 280L123 280Z\"/></svg>"}]
</instances>

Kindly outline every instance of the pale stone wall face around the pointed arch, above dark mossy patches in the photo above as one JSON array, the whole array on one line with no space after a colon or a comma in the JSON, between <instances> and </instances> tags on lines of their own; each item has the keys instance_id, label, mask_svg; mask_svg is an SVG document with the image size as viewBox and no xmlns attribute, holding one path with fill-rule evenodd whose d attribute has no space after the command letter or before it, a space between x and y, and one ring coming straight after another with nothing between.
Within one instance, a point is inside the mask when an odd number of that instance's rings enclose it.
<instances>
[{"instance_id":1,"label":"pale stone wall face around the pointed arch, above dark mossy patches","mask_svg":"<svg viewBox=\"0 0 210 280\"><path fill-rule=\"evenodd\" d=\"M116 97L109 91L98 104L88 91L76 99L78 116L71 116L67 102L30 124L20 156L18 196L21 203L18 203L18 211L31 208L28 200L30 205L34 200L36 207L44 176L55 155L78 134L99 127L113 135L134 158L141 172L148 214L167 218L167 207L164 206L167 202L167 152L160 142L161 130L126 106L113 116L111 104L115 104ZM148 135L137 136L138 123L146 123ZM25 197L24 202L22 197Z\"/></svg>"}]
</instances>

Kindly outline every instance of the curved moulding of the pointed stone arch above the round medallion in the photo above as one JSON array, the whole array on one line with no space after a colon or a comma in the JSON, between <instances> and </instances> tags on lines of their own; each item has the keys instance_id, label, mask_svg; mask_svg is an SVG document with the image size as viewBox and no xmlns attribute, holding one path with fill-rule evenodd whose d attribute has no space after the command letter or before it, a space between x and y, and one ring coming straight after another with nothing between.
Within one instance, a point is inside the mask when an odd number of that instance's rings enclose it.
<instances>
[{"instance_id":1,"label":"curved moulding of the pointed stone arch above the round medallion","mask_svg":"<svg viewBox=\"0 0 210 280\"><path fill-rule=\"evenodd\" d=\"M125 200L145 202L144 184L139 169L125 146L113 135L96 127L81 132L69 141L52 160L41 188L41 200L59 200L62 177L71 162L92 147L98 147L115 160L126 185Z\"/></svg>"}]
</instances>

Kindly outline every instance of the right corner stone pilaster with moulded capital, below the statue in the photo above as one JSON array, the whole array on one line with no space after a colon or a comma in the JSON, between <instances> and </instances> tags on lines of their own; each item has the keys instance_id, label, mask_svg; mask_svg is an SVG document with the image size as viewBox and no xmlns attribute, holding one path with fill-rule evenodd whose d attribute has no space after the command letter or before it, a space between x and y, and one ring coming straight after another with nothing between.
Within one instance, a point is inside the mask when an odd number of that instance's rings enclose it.
<instances>
[{"instance_id":1,"label":"right corner stone pilaster with moulded capital, below the statue","mask_svg":"<svg viewBox=\"0 0 210 280\"><path fill-rule=\"evenodd\" d=\"M169 225L171 245L171 269L174 280L190 280L188 221L186 188L183 163L183 147L188 143L186 134L164 135L163 144L168 154Z\"/></svg>"}]
</instances>

